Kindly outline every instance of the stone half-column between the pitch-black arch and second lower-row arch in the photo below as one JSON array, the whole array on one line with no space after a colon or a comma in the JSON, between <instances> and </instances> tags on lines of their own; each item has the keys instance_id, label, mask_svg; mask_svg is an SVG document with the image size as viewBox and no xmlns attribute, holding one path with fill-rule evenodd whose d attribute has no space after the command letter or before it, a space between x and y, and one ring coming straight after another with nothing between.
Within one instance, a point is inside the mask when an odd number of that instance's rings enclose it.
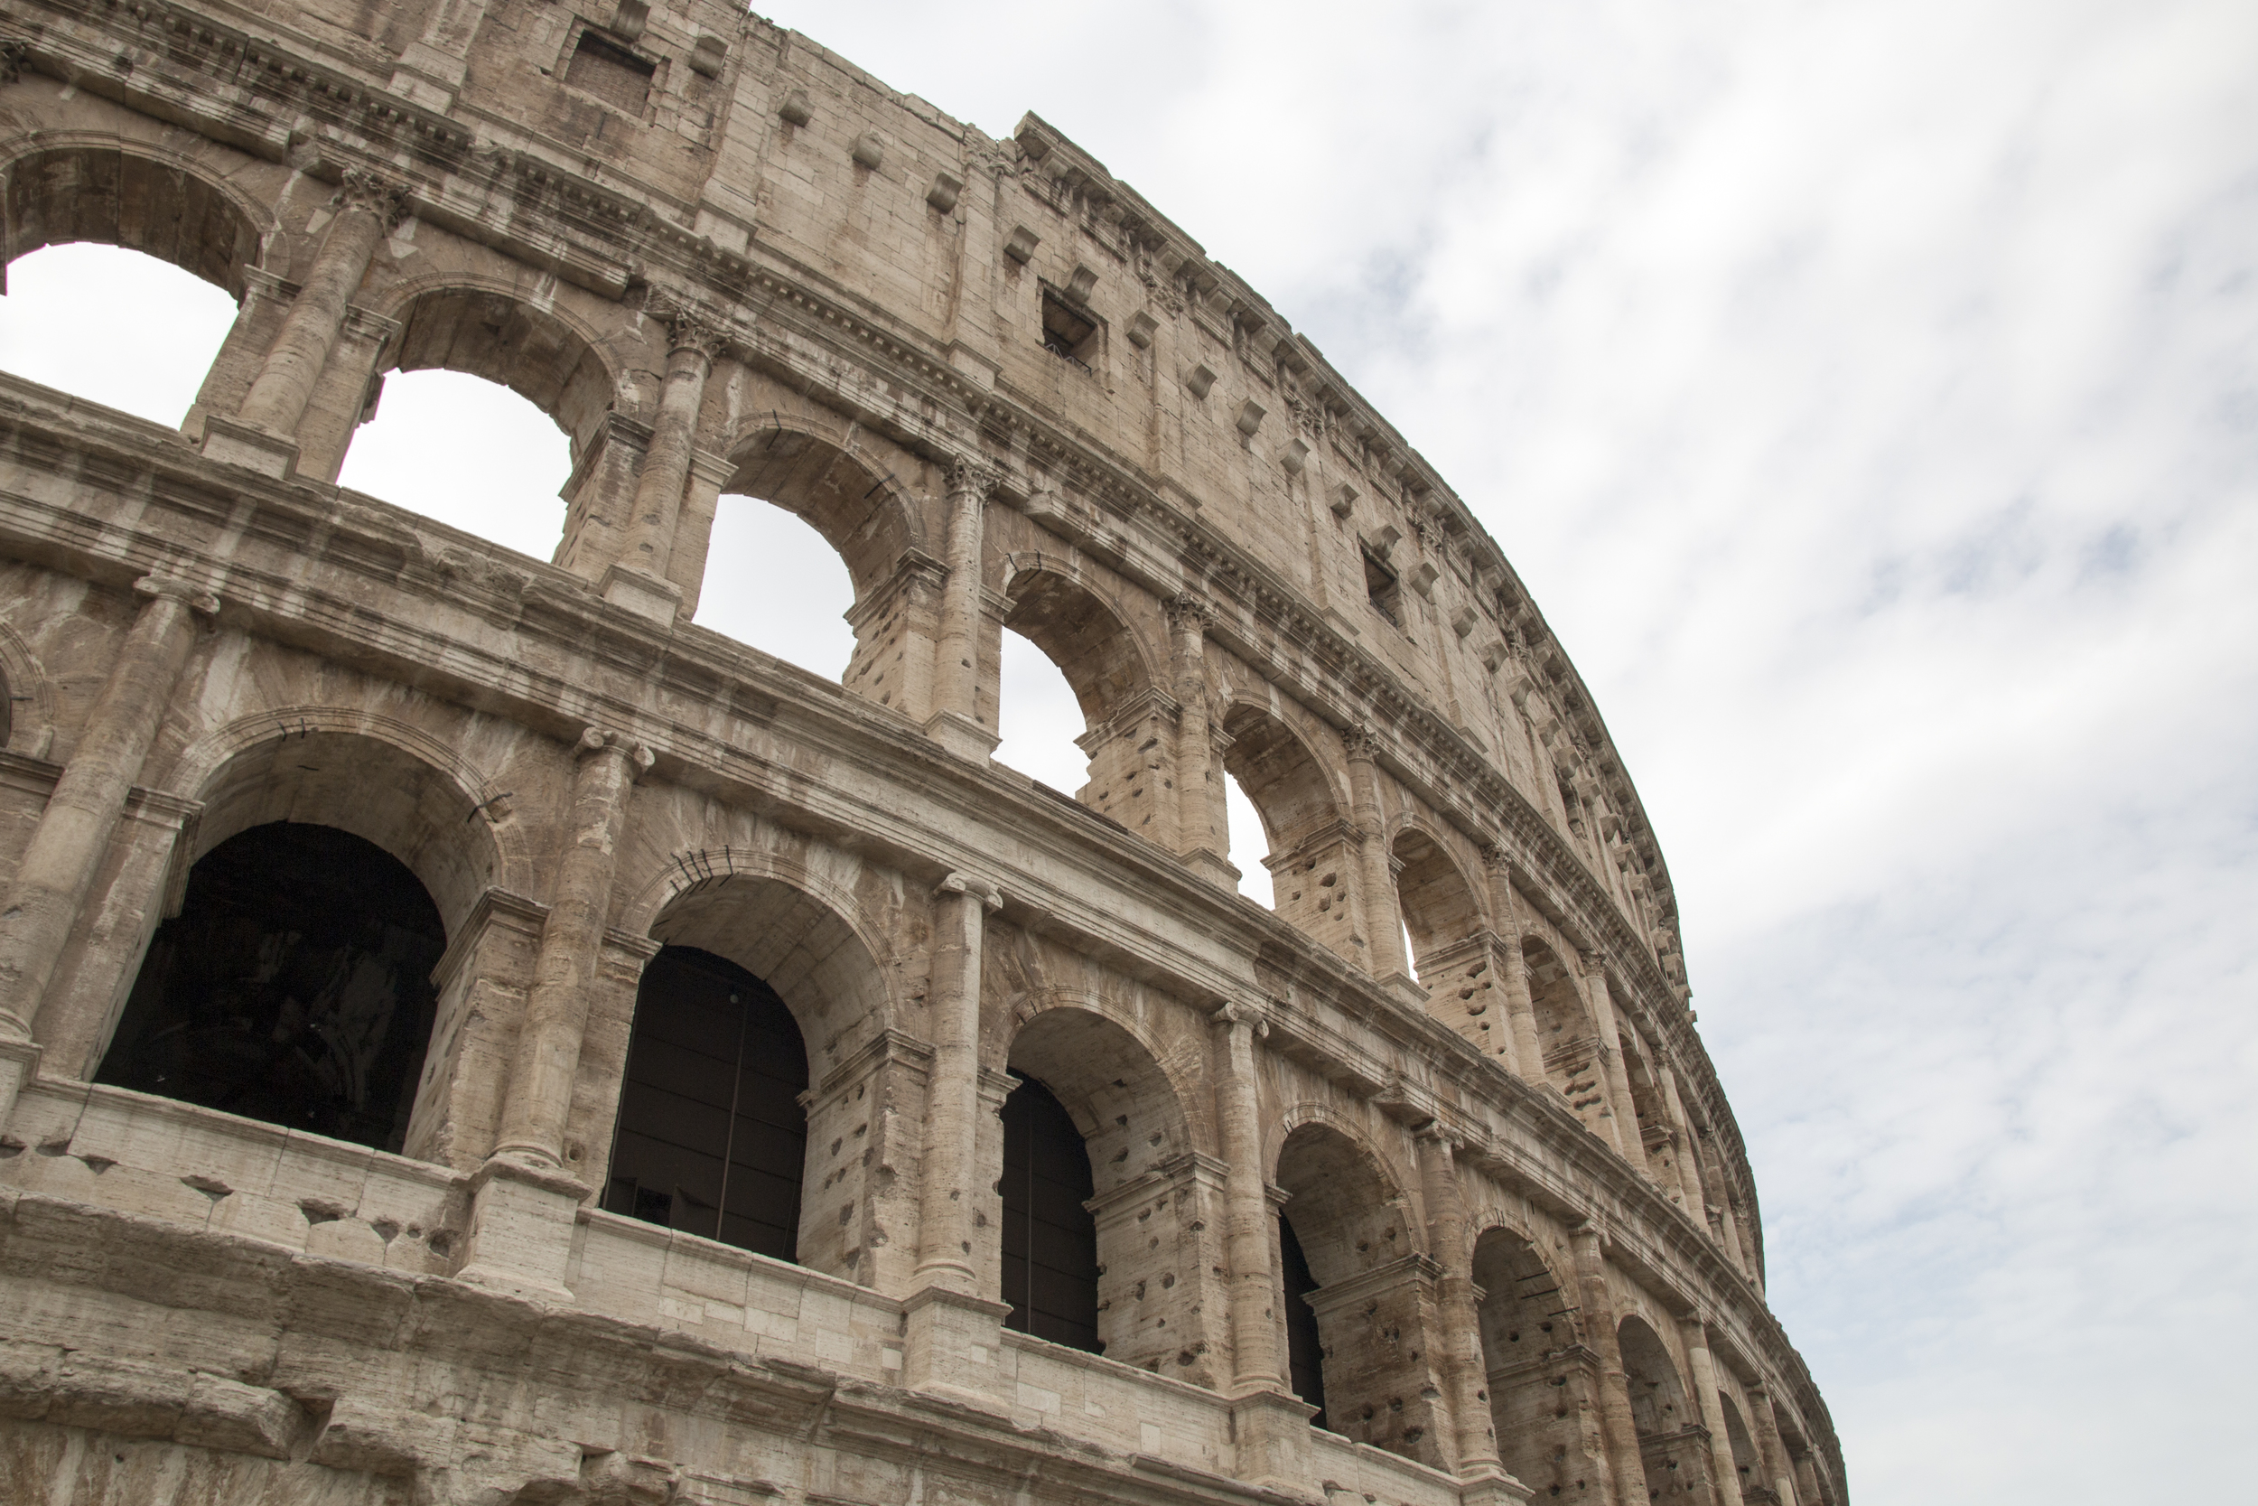
<instances>
[{"instance_id":1,"label":"stone half-column between the pitch-black arch and second lower-row arch","mask_svg":"<svg viewBox=\"0 0 2258 1506\"><path fill-rule=\"evenodd\" d=\"M650 750L614 732L589 727L574 754L571 835L558 860L549 919L533 962L524 1023L510 1061L510 1091L501 1109L495 1158L555 1170L564 1165L564 1124L580 1070L589 987L603 951L612 908L612 869L628 820L634 777L650 768Z\"/></svg>"}]
</instances>

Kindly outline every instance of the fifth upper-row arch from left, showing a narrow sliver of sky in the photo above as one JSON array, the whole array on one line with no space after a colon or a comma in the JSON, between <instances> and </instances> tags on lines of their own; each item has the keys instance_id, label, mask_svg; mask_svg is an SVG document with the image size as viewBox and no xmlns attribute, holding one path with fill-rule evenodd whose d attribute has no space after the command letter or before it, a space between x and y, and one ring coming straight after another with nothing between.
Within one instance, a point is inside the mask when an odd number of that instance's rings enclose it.
<instances>
[{"instance_id":1,"label":"fifth upper-row arch from left, showing a narrow sliver of sky","mask_svg":"<svg viewBox=\"0 0 2258 1506\"><path fill-rule=\"evenodd\" d=\"M1269 874L1271 910L1334 953L1359 960L1355 853L1323 768L1310 745L1262 707L1231 707L1224 732L1231 736L1224 774L1253 811L1251 826L1267 844L1260 865ZM1233 853L1244 849L1240 826L1233 815ZM1233 863L1242 872L1253 867L1237 856Z\"/></svg>"}]
</instances>

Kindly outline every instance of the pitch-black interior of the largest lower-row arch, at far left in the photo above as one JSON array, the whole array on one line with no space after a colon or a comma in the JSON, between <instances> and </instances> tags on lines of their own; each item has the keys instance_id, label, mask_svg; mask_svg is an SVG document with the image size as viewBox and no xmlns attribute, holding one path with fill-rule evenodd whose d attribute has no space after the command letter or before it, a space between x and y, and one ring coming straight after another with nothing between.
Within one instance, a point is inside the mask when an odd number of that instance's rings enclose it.
<instances>
[{"instance_id":1,"label":"pitch-black interior of the largest lower-row arch, at far left","mask_svg":"<svg viewBox=\"0 0 2258 1506\"><path fill-rule=\"evenodd\" d=\"M95 1077L397 1152L445 951L431 896L375 842L253 826L190 869Z\"/></svg>"}]
</instances>

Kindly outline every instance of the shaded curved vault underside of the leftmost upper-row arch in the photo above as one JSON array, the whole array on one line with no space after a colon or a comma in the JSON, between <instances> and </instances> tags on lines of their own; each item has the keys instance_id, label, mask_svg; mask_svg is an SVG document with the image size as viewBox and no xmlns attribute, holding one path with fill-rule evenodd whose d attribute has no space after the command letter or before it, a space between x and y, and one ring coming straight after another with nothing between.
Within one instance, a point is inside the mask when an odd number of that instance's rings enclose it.
<instances>
[{"instance_id":1,"label":"shaded curved vault underside of the leftmost upper-row arch","mask_svg":"<svg viewBox=\"0 0 2258 1506\"><path fill-rule=\"evenodd\" d=\"M5 260L97 242L154 255L237 300L260 233L226 194L194 174L115 147L36 151L7 169Z\"/></svg>"}]
</instances>

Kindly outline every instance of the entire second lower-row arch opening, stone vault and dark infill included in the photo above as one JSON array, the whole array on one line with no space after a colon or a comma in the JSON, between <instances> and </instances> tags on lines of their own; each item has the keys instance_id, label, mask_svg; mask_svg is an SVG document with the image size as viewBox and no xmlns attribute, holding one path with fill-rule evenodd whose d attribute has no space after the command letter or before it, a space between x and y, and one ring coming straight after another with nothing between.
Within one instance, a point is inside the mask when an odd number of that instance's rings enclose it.
<instances>
[{"instance_id":1,"label":"entire second lower-row arch opening, stone vault and dark infill included","mask_svg":"<svg viewBox=\"0 0 2258 1506\"><path fill-rule=\"evenodd\" d=\"M644 1113L657 1104L646 1104L648 1095L637 1084L655 1079L657 1088L695 1097L695 1104L666 1109L680 1122L702 1124L695 1145L704 1161L693 1170L709 1181L682 1185L718 1210L702 1215L723 1231L711 1237L869 1285L876 1260L872 1240L899 1212L885 1203L890 1179L874 1181L872 1174L890 1154L881 1147L887 1118L878 1113L885 1079L876 1077L885 1057L869 1050L883 1039L890 1014L885 971L831 905L752 874L727 874L684 890L659 912L650 935L666 946L637 993L616 1147L630 1152L630 1131L664 1138ZM698 1036L704 1061L673 1054L684 1016L704 1021ZM720 1039L732 1027L741 1032L743 1050ZM659 1030L668 1034L659 1036ZM666 1041L653 1048L648 1070L632 1061L646 1036ZM693 1082L702 1084L695 1095L689 1091ZM806 1109L795 1113L802 1093ZM732 1095L734 1109L725 1106L725 1095ZM765 1095L768 1102L752 1104L745 1095ZM646 1142L632 1147L644 1154ZM637 1161L616 1170L605 1165L607 1197L621 1176L634 1181L637 1194L648 1185L673 1197L664 1165L691 1163L680 1156L662 1161L650 1163L659 1165L653 1172ZM727 1190L720 1174L729 1181ZM698 1192L698 1185L711 1190ZM790 1242L774 1231L786 1217L788 1188L797 1199ZM763 1210L759 1219L754 1203ZM619 1210L634 1215L634 1208ZM671 1226L707 1233L695 1222L673 1222L686 1217L673 1210ZM761 1222L770 1233L754 1228ZM770 1244L754 1244L756 1235Z\"/></svg>"}]
</instances>

